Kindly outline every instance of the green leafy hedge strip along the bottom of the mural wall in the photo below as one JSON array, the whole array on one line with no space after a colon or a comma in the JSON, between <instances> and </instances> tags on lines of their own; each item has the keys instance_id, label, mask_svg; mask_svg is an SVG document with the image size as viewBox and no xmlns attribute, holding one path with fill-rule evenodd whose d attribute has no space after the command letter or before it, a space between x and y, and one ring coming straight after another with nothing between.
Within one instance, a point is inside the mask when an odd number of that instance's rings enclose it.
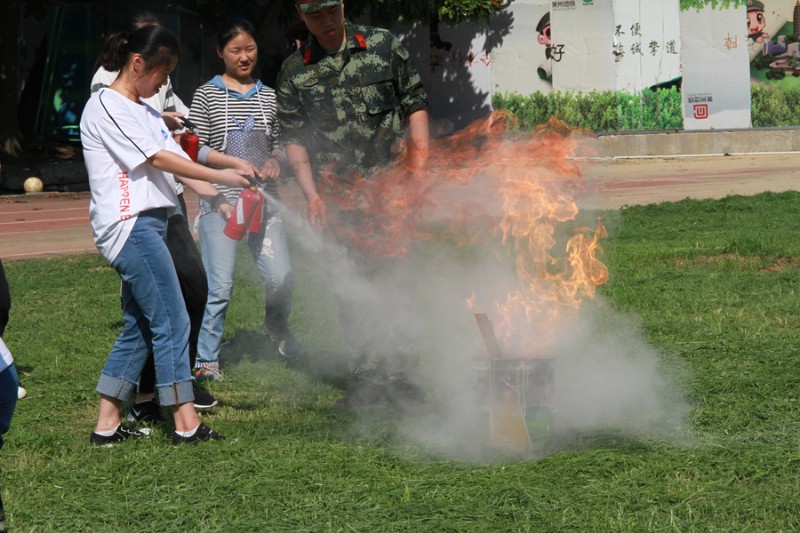
<instances>
[{"instance_id":1,"label":"green leafy hedge strip along the bottom of the mural wall","mask_svg":"<svg viewBox=\"0 0 800 533\"><path fill-rule=\"evenodd\" d=\"M567 125L595 132L676 130L683 128L681 92L675 88L625 92L498 93L496 110L506 110L521 129L532 129L557 117ZM800 126L800 87L753 85L751 114L754 128Z\"/></svg>"}]
</instances>

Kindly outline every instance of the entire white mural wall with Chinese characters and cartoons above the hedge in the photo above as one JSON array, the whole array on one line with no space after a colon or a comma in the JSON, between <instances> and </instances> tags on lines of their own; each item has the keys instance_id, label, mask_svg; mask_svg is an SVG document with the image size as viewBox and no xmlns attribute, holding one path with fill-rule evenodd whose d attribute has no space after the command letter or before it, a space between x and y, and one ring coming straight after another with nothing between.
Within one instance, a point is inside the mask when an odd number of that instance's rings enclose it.
<instances>
[{"instance_id":1,"label":"entire white mural wall with Chinese characters and cartoons above the hedge","mask_svg":"<svg viewBox=\"0 0 800 533\"><path fill-rule=\"evenodd\" d=\"M512 27L489 53L493 93L675 87L684 128L702 130L750 127L752 84L800 90L800 0L515 0L507 10Z\"/></svg>"}]
</instances>

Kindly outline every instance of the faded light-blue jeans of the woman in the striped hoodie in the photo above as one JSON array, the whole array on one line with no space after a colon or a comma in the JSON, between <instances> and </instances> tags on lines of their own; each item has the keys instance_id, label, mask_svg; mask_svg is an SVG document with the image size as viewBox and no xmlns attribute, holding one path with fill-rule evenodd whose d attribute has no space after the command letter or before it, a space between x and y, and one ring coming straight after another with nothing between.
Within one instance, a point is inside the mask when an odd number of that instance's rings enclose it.
<instances>
[{"instance_id":1,"label":"faded light-blue jeans of the woman in the striped hoodie","mask_svg":"<svg viewBox=\"0 0 800 533\"><path fill-rule=\"evenodd\" d=\"M209 211L207 205L202 207L200 251L208 277L208 301L197 339L197 367L219 360L225 315L233 294L238 244L222 232L222 217ZM285 328L292 308L293 277L283 220L270 216L262 233L248 233L245 238L264 284L264 325L271 330Z\"/></svg>"}]
</instances>

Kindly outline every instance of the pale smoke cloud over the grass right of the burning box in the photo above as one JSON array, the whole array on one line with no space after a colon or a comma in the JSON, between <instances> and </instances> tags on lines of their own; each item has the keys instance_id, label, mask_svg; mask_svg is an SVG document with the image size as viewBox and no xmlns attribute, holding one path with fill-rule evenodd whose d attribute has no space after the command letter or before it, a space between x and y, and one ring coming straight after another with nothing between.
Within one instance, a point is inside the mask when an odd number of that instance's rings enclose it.
<instances>
[{"instance_id":1,"label":"pale smoke cloud over the grass right of the burning box","mask_svg":"<svg viewBox=\"0 0 800 533\"><path fill-rule=\"evenodd\" d=\"M582 311L554 354L558 431L685 438L690 406L678 369L665 364L631 317L599 299Z\"/></svg>"}]
</instances>

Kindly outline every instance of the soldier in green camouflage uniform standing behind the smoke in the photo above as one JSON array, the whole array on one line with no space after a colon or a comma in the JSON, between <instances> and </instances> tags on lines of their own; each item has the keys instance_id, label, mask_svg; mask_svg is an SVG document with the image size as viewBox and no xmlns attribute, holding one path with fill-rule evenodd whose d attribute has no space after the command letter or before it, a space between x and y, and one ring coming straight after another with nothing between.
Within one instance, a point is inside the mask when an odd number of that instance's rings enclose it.
<instances>
[{"instance_id":1,"label":"soldier in green camouflage uniform standing behind the smoke","mask_svg":"<svg viewBox=\"0 0 800 533\"><path fill-rule=\"evenodd\" d=\"M424 171L428 97L409 62L408 50L388 31L346 21L340 0L297 0L297 10L310 35L281 68L276 87L278 120L289 164L308 202L309 220L323 227L326 206L317 191L320 183L333 180L337 183L334 194L346 196L352 178L369 179L403 150L408 151L411 168ZM360 228L360 220L357 208L339 212L337 227ZM365 261L366 256L353 250L348 255L362 274L377 270L374 260ZM372 395L367 401L391 401L387 391L408 390L403 380L395 379L408 358L399 353L376 354L361 344L374 318L370 309L342 295L337 299L345 335L361 356L353 363L354 374L370 386L378 383L382 391L380 397ZM402 351L409 343L386 344ZM390 364L387 355L392 356ZM351 399L359 395L350 392Z\"/></svg>"}]
</instances>

